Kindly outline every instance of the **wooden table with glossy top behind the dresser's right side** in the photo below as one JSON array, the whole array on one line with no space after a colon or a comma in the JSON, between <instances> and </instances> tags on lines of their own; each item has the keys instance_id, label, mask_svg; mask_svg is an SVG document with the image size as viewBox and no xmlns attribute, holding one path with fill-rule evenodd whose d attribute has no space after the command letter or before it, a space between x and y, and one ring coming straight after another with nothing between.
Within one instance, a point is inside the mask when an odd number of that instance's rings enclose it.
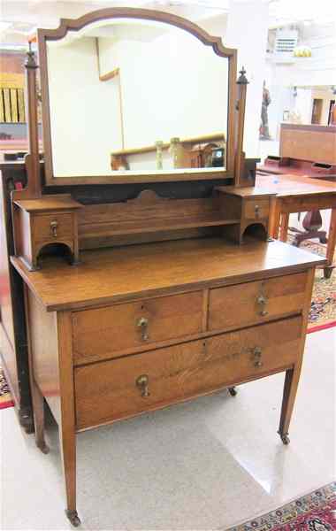
<instances>
[{"instance_id":1,"label":"wooden table with glossy top behind the dresser's right side","mask_svg":"<svg viewBox=\"0 0 336 531\"><path fill-rule=\"evenodd\" d=\"M270 235L279 237L282 242L287 239L290 213L332 210L326 247L327 264L324 266L325 278L330 278L336 245L336 183L296 175L279 175L275 181L274 175L262 173L256 178L256 193L259 190L275 194L272 199ZM314 237L313 231L309 234Z\"/></svg>"}]
</instances>

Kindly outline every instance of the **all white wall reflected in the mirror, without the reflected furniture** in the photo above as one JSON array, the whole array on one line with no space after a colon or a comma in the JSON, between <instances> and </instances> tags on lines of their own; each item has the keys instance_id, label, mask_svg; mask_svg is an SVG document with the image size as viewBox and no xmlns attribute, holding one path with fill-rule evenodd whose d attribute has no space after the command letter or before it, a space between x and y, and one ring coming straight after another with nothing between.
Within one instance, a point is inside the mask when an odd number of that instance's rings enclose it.
<instances>
[{"instance_id":1,"label":"all white wall reflected in the mirror, without the reflected furniture","mask_svg":"<svg viewBox=\"0 0 336 531\"><path fill-rule=\"evenodd\" d=\"M101 74L118 67L120 81L99 81L94 37L49 47L57 176L111 173L110 153L123 148L119 82L125 148L226 134L228 62L193 35L172 29L151 42L99 38L99 57ZM155 153L130 162L134 170L155 169Z\"/></svg>"}]
</instances>

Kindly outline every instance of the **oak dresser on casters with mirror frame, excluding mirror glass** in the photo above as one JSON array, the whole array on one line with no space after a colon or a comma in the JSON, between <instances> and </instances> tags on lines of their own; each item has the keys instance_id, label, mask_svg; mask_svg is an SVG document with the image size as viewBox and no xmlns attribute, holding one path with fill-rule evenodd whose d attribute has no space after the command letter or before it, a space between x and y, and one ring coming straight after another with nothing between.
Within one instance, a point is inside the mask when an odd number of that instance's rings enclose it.
<instances>
[{"instance_id":1,"label":"oak dresser on casters with mirror frame, excluding mirror glass","mask_svg":"<svg viewBox=\"0 0 336 531\"><path fill-rule=\"evenodd\" d=\"M229 57L229 167L219 179L216 172L197 178L160 173L157 181L142 175L123 186L105 178L55 179L47 127L43 188L36 65L29 53L28 182L11 197L17 249L23 232L16 209L28 212L33 203L34 217L36 205L52 203L52 196L57 203L67 193L81 205L77 212L73 204L81 264L69 266L58 252L42 255L41 271L32 271L19 252L11 264L25 285L36 444L48 452L47 403L59 427L66 515L74 526L80 524L76 435L82 430L218 389L229 388L234 395L238 383L285 372L279 435L289 443L314 270L325 264L306 251L268 241L273 191L242 188L254 185L256 170L256 160L246 160L242 151L245 72L238 80L236 106L236 51L194 24L167 13L115 8L63 20L57 30L40 30L45 119L52 112L46 97L45 39L118 16L170 22ZM39 241L46 226L38 225L31 241ZM73 218L66 230L75 235Z\"/></svg>"}]
</instances>

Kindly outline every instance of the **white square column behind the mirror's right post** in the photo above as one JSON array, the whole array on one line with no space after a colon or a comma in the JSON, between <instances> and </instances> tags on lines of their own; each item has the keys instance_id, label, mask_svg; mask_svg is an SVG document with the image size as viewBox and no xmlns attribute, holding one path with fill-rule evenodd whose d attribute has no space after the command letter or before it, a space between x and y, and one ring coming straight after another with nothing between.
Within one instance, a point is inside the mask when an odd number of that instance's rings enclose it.
<instances>
[{"instance_id":1,"label":"white square column behind the mirror's right post","mask_svg":"<svg viewBox=\"0 0 336 531\"><path fill-rule=\"evenodd\" d=\"M223 40L225 46L238 49L238 70L244 65L247 71L249 84L244 130L247 158L258 157L268 19L269 6L263 0L230 1L227 31Z\"/></svg>"}]
</instances>

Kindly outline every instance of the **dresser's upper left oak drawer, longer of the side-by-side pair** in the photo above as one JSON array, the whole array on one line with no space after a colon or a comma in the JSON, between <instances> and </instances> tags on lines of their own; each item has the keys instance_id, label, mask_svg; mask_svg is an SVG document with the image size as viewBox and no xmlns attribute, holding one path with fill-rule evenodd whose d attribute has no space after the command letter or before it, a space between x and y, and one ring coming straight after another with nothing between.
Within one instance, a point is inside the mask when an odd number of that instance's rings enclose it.
<instances>
[{"instance_id":1,"label":"dresser's upper left oak drawer, longer of the side-by-side pair","mask_svg":"<svg viewBox=\"0 0 336 531\"><path fill-rule=\"evenodd\" d=\"M76 364L202 331L202 291L73 313Z\"/></svg>"}]
</instances>

